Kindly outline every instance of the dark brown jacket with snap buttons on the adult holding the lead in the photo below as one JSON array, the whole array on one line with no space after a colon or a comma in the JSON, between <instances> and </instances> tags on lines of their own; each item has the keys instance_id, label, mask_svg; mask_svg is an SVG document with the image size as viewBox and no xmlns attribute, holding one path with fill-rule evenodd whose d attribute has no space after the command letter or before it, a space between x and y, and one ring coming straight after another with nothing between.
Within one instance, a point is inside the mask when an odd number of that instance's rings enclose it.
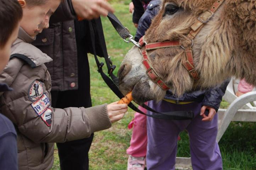
<instances>
[{"instance_id":1,"label":"dark brown jacket with snap buttons on the adult holding the lead","mask_svg":"<svg viewBox=\"0 0 256 170\"><path fill-rule=\"evenodd\" d=\"M53 59L46 64L53 91L78 89L75 18L71 0L65 0L51 16L50 27L38 34L32 43Z\"/></svg>"}]
</instances>

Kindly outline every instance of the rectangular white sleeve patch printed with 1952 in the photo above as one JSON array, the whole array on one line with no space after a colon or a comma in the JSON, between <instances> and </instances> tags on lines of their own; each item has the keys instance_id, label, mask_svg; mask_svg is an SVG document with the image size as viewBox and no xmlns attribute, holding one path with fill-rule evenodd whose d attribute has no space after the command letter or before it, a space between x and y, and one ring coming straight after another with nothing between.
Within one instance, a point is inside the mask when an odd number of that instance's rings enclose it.
<instances>
[{"instance_id":1,"label":"rectangular white sleeve patch printed with 1952","mask_svg":"<svg viewBox=\"0 0 256 170\"><path fill-rule=\"evenodd\" d=\"M32 103L31 106L34 109L35 113L37 113L38 116L41 116L50 106L49 98L44 94L37 101Z\"/></svg>"}]
</instances>

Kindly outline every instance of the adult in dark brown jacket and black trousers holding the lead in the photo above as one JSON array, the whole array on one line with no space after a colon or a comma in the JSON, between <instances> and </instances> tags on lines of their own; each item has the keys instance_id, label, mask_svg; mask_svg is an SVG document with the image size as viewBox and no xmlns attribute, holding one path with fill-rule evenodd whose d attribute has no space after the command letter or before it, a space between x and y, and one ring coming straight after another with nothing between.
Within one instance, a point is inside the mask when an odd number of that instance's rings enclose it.
<instances>
[{"instance_id":1,"label":"adult in dark brown jacket and black trousers holding the lead","mask_svg":"<svg viewBox=\"0 0 256 170\"><path fill-rule=\"evenodd\" d=\"M49 28L38 34L32 43L53 59L45 64L51 75L52 107L63 109L92 106L87 56L88 49L92 49L89 21L77 21L76 18L79 16L89 19L93 16L99 17L100 14L107 15L104 11L113 12L109 6L106 0L65 0L51 16ZM94 14L91 14L91 9L99 11L93 11ZM97 37L95 34L96 42ZM97 45L99 46L96 44L96 47ZM101 57L101 49L96 51ZM61 170L89 169L88 152L93 136L94 133L88 138L56 143Z\"/></svg>"}]
</instances>

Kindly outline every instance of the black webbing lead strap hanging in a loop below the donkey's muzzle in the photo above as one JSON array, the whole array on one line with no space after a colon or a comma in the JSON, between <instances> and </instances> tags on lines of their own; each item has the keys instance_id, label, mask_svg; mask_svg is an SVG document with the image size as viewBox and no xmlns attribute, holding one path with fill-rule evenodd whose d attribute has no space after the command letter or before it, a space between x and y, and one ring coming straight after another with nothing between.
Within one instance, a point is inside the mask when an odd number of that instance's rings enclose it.
<instances>
[{"instance_id":1,"label":"black webbing lead strap hanging in a loop below the donkey's muzzle","mask_svg":"<svg viewBox=\"0 0 256 170\"><path fill-rule=\"evenodd\" d=\"M115 16L112 14L112 16ZM110 21L111 18L109 17ZM115 17L115 20L117 18ZM117 19L118 20L118 19ZM111 22L112 23L112 22ZM118 23L115 21L115 23ZM121 22L119 22L121 24ZM114 25L113 25L114 26ZM119 88L117 86L118 84L118 78L113 74L113 70L116 68L116 66L112 65L112 62L108 58L107 54L107 48L106 48L106 43L105 43L105 38L104 38L104 33L103 33L103 28L101 24L101 19L95 19L93 21L89 21L89 27L90 27L90 36L91 36L91 42L92 42L92 47L93 47L93 53L94 53L94 58L98 67L98 72L101 74L102 79L105 81L105 83L108 85L108 87L121 99L124 97L124 95L119 91ZM115 27L115 26L114 26ZM123 27L124 28L124 27ZM121 29L121 27L119 27ZM125 29L125 28L124 28ZM117 29L116 29L117 30ZM127 32L128 30L125 29ZM95 34L96 33L96 34ZM102 67L104 66L104 63L100 63L98 60L98 57L96 55L96 47L95 47L95 35L98 35L100 46L104 55L104 59L108 68L108 74L111 77L111 79L103 72ZM188 120L188 119L193 119L194 118L194 113L191 111L175 111L175 112L157 112L154 109L146 106L145 104L142 104L142 107L147 109L148 111L151 111L153 115L148 115L140 111L132 102L128 104L128 106L133 109L135 112L138 112L140 114L144 114L146 116L152 117L152 118L158 118L158 119L172 119L172 120Z\"/></svg>"}]
</instances>

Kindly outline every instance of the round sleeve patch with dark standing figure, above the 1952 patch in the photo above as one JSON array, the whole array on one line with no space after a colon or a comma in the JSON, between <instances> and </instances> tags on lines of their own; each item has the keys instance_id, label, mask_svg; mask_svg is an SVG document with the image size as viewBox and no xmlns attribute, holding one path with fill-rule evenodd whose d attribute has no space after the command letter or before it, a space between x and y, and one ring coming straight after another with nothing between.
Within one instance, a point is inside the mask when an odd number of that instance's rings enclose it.
<instances>
[{"instance_id":1,"label":"round sleeve patch with dark standing figure, above the 1952 patch","mask_svg":"<svg viewBox=\"0 0 256 170\"><path fill-rule=\"evenodd\" d=\"M31 101L37 101L44 94L44 88L41 81L35 80L29 87L28 98Z\"/></svg>"}]
</instances>

